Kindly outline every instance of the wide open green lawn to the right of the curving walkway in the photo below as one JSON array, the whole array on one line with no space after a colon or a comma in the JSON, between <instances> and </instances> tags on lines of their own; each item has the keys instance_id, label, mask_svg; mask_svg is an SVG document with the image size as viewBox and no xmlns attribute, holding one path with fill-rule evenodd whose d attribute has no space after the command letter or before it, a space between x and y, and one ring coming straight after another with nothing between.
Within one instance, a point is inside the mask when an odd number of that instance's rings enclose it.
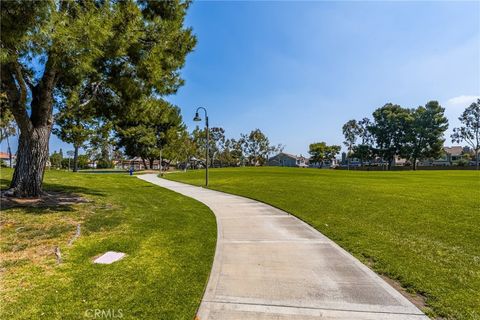
<instances>
[{"instance_id":1,"label":"wide open green lawn to the right of the curving walkway","mask_svg":"<svg viewBox=\"0 0 480 320\"><path fill-rule=\"evenodd\" d=\"M204 183L203 171L168 174ZM213 169L210 187L284 209L426 298L431 316L480 319L480 173Z\"/></svg>"}]
</instances>

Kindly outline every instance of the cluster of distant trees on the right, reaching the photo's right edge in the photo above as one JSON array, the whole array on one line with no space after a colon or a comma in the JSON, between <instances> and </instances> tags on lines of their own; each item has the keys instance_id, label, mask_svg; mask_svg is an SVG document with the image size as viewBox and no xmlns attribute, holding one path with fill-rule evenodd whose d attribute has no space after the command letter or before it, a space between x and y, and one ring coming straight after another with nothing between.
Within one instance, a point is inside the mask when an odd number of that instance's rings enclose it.
<instances>
[{"instance_id":1,"label":"cluster of distant trees on the right, reaching the photo's right edge","mask_svg":"<svg viewBox=\"0 0 480 320\"><path fill-rule=\"evenodd\" d=\"M444 133L448 128L445 109L437 101L418 108L403 108L388 103L373 112L373 120L349 120L343 127L348 159L364 161L380 157L392 166L402 157L416 169L418 160L438 158L443 152ZM480 99L460 116L462 127L454 128L452 142L468 143L475 152L478 168L480 151ZM350 160L349 160L350 161Z\"/></svg>"}]
</instances>

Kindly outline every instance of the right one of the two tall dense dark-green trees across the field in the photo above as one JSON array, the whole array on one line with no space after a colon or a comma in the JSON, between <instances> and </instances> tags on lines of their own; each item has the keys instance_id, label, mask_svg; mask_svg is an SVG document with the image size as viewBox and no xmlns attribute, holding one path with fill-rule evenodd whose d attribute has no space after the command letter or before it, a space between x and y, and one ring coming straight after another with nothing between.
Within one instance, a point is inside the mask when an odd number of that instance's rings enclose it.
<instances>
[{"instance_id":1,"label":"right one of the two tall dense dark-green trees across the field","mask_svg":"<svg viewBox=\"0 0 480 320\"><path fill-rule=\"evenodd\" d=\"M443 134L448 128L445 109L437 101L428 102L411 110L406 124L406 143L402 154L412 162L416 170L417 160L438 158L443 150Z\"/></svg>"}]
</instances>

